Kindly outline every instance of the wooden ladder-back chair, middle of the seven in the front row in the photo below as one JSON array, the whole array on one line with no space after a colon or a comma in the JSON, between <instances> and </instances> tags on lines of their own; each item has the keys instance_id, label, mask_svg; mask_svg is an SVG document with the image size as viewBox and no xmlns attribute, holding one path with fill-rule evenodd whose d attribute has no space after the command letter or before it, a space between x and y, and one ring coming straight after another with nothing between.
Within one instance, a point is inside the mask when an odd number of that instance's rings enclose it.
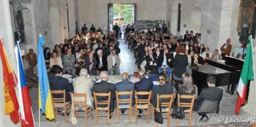
<instances>
[{"instance_id":1,"label":"wooden ladder-back chair, middle of the seven in the front row","mask_svg":"<svg viewBox=\"0 0 256 127\"><path fill-rule=\"evenodd\" d=\"M120 96L130 96L129 99L120 99ZM117 121L120 123L120 115L129 115L129 124L131 124L131 104L132 103L132 90L130 92L117 92L116 91L116 114L117 114ZM120 114L121 109L129 109L128 114Z\"/></svg>"}]
</instances>

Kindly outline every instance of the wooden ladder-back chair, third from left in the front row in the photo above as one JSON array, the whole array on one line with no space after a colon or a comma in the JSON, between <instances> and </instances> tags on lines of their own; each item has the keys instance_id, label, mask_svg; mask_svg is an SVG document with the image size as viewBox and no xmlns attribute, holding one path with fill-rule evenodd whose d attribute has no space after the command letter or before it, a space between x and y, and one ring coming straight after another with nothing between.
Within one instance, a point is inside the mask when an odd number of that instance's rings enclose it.
<instances>
[{"instance_id":1,"label":"wooden ladder-back chair, third from left in the front row","mask_svg":"<svg viewBox=\"0 0 256 127\"><path fill-rule=\"evenodd\" d=\"M103 116L103 117L107 117L107 125L109 125L109 120L110 120L110 96L111 96L111 92L109 93L96 93L93 92L93 96L94 96L94 103L95 103L95 108L96 108L96 125L98 125L98 117L99 116ZM97 101L97 96L105 96L107 98L107 100L105 101ZM107 105L106 107L102 108L102 107L98 107L98 105ZM99 111L107 111L107 115L98 115Z\"/></svg>"}]
</instances>

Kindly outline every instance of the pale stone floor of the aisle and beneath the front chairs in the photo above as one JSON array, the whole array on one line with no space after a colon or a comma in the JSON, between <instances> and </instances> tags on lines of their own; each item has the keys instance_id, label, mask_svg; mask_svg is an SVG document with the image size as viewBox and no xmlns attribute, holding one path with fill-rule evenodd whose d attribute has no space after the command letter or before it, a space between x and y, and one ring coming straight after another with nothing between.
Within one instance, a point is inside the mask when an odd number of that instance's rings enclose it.
<instances>
[{"instance_id":1,"label":"pale stone floor of the aisle and beneath the front chairs","mask_svg":"<svg viewBox=\"0 0 256 127\"><path fill-rule=\"evenodd\" d=\"M137 67L134 64L135 60L134 60L134 56L132 55L132 53L130 52L129 49L127 49L127 45L124 44L124 41L120 41L120 48L121 48L121 53L120 53L120 58L121 58L121 73L122 72L129 72L130 74L133 74L134 71L137 71ZM225 89L226 87L221 87L221 89ZM64 122L64 117L62 115L56 115L56 123L50 122L48 120L46 120L45 116L43 115L39 115L38 113L38 90L37 88L32 88L30 91L31 94L31 99L32 99L32 108L33 108L33 116L36 122L36 126L47 126L47 127L67 127L67 126L73 126L70 123L65 123ZM221 100L220 103L220 111L218 114L218 117L220 117L219 115L223 115L223 118L226 120L227 116L229 114L232 114L232 116L235 116L236 118L242 118L243 117L247 117L247 114L244 113L244 111L242 110L240 115L235 115L234 110L235 110L235 104L236 104L236 100L237 100L237 94L234 95L230 95L224 92L223 94L223 99ZM99 113L99 114L104 114L105 112ZM93 116L95 117L95 111L93 111ZM68 116L69 117L69 116ZM192 115L192 125L193 126L249 126L249 125L234 125L234 124L219 124L218 121L216 121L216 114L212 114L211 118L209 121L203 122L203 121L199 121L200 116L195 115L195 113L193 113ZM84 123L84 119L83 118L77 118L78 120L78 125L76 126L85 126ZM117 119L115 116L115 111L114 111L114 115L112 116L111 120L110 120L110 125L107 125L106 122L106 118L99 118L99 125L98 126L155 126L154 120L150 119L150 123L146 124L146 116L142 116L142 118L140 118L137 122L137 124L135 124L135 117L132 116L132 122L131 124L129 124L129 119L128 116L120 116L120 124L117 123ZM170 118L170 125L171 126L175 126L175 119ZM87 126L96 126L96 122L95 122L95 118L93 120L91 120L91 118L88 118L88 124ZM166 120L164 120L164 124L159 125L159 126L166 126ZM188 120L179 120L179 126L188 126Z\"/></svg>"}]
</instances>

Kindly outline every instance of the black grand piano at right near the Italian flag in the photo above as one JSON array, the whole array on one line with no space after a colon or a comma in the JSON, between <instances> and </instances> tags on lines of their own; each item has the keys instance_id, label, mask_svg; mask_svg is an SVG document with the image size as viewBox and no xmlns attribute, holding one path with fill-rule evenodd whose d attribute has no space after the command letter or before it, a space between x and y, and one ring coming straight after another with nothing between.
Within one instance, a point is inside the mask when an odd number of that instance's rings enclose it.
<instances>
[{"instance_id":1,"label":"black grand piano at right near the Italian flag","mask_svg":"<svg viewBox=\"0 0 256 127\"><path fill-rule=\"evenodd\" d=\"M203 88L208 87L206 78L209 74L216 76L216 87L228 85L226 91L230 94L234 93L244 62L242 59L234 57L225 57L224 59L225 62L206 59L206 64L191 68L193 83L198 87L198 94Z\"/></svg>"}]
</instances>

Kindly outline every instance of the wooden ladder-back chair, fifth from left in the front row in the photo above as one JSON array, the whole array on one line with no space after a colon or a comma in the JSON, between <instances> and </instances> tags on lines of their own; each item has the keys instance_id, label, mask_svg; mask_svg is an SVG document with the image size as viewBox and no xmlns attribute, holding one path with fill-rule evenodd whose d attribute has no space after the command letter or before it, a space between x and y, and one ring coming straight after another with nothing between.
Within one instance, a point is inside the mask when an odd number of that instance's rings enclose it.
<instances>
[{"instance_id":1,"label":"wooden ladder-back chair, fifth from left in the front row","mask_svg":"<svg viewBox=\"0 0 256 127\"><path fill-rule=\"evenodd\" d=\"M148 96L147 99L139 99L138 95ZM151 99L151 90L149 92L137 92L135 91L135 123L137 124L138 115L147 115L147 124L149 124L149 111L150 111L150 99ZM147 113L137 113L138 109L147 109Z\"/></svg>"}]
</instances>

